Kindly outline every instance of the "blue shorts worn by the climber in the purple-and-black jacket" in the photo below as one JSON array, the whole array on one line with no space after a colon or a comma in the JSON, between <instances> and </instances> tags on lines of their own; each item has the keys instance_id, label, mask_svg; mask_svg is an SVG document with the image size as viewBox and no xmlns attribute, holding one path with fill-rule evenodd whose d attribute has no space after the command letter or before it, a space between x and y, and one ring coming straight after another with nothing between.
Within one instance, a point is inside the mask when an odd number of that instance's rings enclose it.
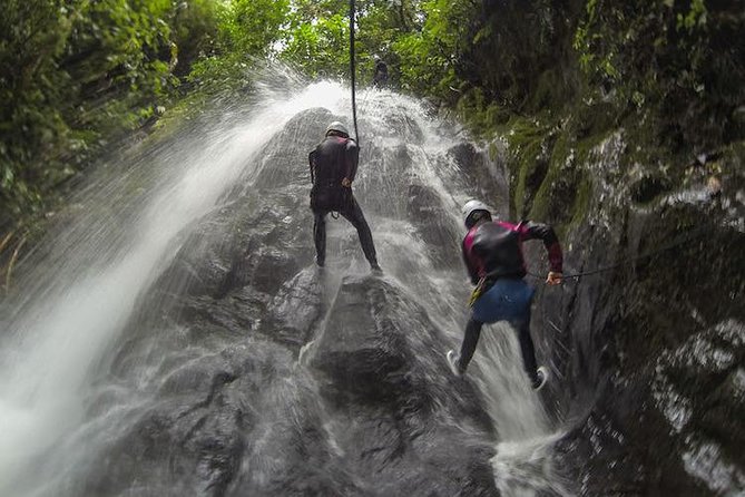
<instances>
[{"instance_id":1,"label":"blue shorts worn by the climber in the purple-and-black jacket","mask_svg":"<svg viewBox=\"0 0 745 497\"><path fill-rule=\"evenodd\" d=\"M523 280L497 280L491 289L473 304L472 318L482 323L528 321L536 289Z\"/></svg>"}]
</instances>

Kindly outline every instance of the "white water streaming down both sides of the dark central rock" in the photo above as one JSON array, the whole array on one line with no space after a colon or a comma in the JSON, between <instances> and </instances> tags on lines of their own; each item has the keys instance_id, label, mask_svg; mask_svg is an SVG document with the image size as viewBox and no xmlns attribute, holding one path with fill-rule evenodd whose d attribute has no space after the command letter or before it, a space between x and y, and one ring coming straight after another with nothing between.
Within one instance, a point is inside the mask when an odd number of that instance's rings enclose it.
<instances>
[{"instance_id":1,"label":"white water streaming down both sides of the dark central rock","mask_svg":"<svg viewBox=\"0 0 745 497\"><path fill-rule=\"evenodd\" d=\"M87 402L101 388L101 364L118 352L112 348L127 323L147 305L141 295L169 266L193 226L237 183L249 185L267 167L261 154L293 117L314 107L350 114L349 90L335 82L258 91L261 98L252 99L258 104L233 108L228 118L192 130L170 147L114 160L78 194L65 230L21 267L17 294L0 319L0 495L56 495L58 481L86 460L76 451L94 450L116 432L124 417L107 411L108 417L97 418ZM379 259L457 347L469 290L458 253L459 205L480 193L448 154L462 138L420 103L394 92L362 91L359 101L356 195ZM503 184L493 164L487 168L494 184ZM432 212L437 222L427 228L445 247L439 260L415 234L421 218L411 216L406 202L412 185L434 192L444 208ZM330 259L344 257L343 247L356 244L343 222L331 223L329 236ZM359 270L363 264L355 256L351 267ZM568 495L551 469L558 433L528 386L512 331L501 325L484 330L471 370L500 437L491 462L502 494ZM127 409L137 410L143 401L130 394ZM89 442L72 444L81 433ZM49 475L59 480L40 479L40 466L55 467ZM139 495L135 486L130 491Z\"/></svg>"}]
</instances>

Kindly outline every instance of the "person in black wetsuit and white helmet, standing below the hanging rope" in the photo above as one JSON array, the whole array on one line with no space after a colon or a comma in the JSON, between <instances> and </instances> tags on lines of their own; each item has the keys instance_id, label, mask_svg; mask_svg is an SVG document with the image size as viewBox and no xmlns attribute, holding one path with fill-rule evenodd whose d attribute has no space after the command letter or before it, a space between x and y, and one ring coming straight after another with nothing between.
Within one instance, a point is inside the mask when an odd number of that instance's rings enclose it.
<instances>
[{"instance_id":1,"label":"person in black wetsuit and white helmet, standing below the hanging rope","mask_svg":"<svg viewBox=\"0 0 745 497\"><path fill-rule=\"evenodd\" d=\"M314 215L315 262L321 267L326 262L326 215L337 212L356 228L370 267L381 272L370 226L352 194L359 158L357 144L340 121L329 125L324 140L308 156L313 182L311 209Z\"/></svg>"}]
</instances>

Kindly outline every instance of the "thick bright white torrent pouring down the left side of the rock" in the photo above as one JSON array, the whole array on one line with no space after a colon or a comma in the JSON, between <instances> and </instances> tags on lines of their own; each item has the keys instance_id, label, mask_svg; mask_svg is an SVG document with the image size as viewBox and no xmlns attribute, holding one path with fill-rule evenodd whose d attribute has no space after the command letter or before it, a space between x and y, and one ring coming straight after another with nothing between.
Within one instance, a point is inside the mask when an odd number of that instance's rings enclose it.
<instances>
[{"instance_id":1,"label":"thick bright white torrent pouring down the left side of the rock","mask_svg":"<svg viewBox=\"0 0 745 497\"><path fill-rule=\"evenodd\" d=\"M244 124L206 133L188 145L186 163L173 164L176 157L167 153L158 156L163 167L177 168L177 174L167 188L154 193L137 224L121 226L129 233L125 253L112 251L118 236L96 245L71 241L76 257L42 283L43 299L28 295L31 303L3 331L9 339L0 364L0 495L17 495L23 479L33 477L35 458L79 425L86 388L94 380L91 367L118 338L138 295L167 266L182 232L236 182L248 181L255 170L246 166L261 163L252 158L291 117L317 106L341 113L341 95L337 85L312 85L294 98L269 100ZM120 255L109 260L111 252ZM95 267L82 279L81 261ZM35 282L24 283L39 290Z\"/></svg>"}]
</instances>

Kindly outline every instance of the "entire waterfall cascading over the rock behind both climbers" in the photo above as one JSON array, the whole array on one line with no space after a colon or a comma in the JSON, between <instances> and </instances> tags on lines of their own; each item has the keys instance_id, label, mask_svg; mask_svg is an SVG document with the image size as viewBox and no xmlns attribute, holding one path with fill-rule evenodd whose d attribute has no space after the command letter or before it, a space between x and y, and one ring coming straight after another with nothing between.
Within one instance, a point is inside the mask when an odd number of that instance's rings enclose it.
<instances>
[{"instance_id":1,"label":"entire waterfall cascading over the rock behind both climbers","mask_svg":"<svg viewBox=\"0 0 745 497\"><path fill-rule=\"evenodd\" d=\"M463 451L482 450L479 415L463 407L473 382L480 393L471 401L482 399L501 440L492 466L503 495L566 493L510 330L484 331L464 382L452 383L444 366L444 351L460 343L469 291L458 206L503 187L493 164L415 101L362 92L355 195L385 276L366 275L344 222L330 223L325 274L312 266L305 157L326 119L351 114L347 92L331 82L266 91L249 111L144 154L124 178L101 172L81 194L84 212L70 214L48 253L29 259L38 269L26 270L12 313L0 320L1 495L396 495L364 469L385 448L363 450L360 466L349 457L364 446L350 425L388 415L341 408L315 372L327 363L318 358L329 337L353 327L344 323L355 319L357 291L390 304L371 304L371 323L411 345L425 380L392 373L424 384L427 406L393 416L409 440L396 442L409 449L395 457L414 450L412 460L447 465L438 454L450 448L432 448L448 445L431 435L440 432ZM464 174L479 162L480 172ZM339 324L345 305L353 314ZM414 332L423 320L430 328ZM298 363L301 347L311 359ZM391 403L390 396L371 398ZM416 427L424 410L432 417ZM375 464L389 471L395 460ZM399 467L400 485L421 485Z\"/></svg>"}]
</instances>

